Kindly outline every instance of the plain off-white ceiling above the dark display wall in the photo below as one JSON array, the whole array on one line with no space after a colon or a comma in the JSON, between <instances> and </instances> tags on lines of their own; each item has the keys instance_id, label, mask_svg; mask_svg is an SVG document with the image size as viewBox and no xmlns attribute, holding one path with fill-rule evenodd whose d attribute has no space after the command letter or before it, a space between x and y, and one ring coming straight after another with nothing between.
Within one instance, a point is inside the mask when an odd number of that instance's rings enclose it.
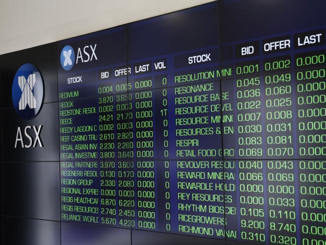
<instances>
[{"instance_id":1,"label":"plain off-white ceiling above the dark display wall","mask_svg":"<svg viewBox=\"0 0 326 245\"><path fill-rule=\"evenodd\" d=\"M55 42L212 0L0 0L0 54Z\"/></svg>"}]
</instances>

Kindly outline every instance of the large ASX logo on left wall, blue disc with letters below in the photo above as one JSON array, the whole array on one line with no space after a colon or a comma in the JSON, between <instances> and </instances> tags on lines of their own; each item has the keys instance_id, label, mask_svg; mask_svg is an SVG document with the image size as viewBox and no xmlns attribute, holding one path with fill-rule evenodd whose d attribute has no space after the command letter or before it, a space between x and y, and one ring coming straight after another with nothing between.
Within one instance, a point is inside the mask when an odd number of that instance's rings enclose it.
<instances>
[{"instance_id":1,"label":"large ASX logo on left wall, blue disc with letters below","mask_svg":"<svg viewBox=\"0 0 326 245\"><path fill-rule=\"evenodd\" d=\"M12 99L17 114L24 120L31 120L40 112L44 99L44 85L41 72L35 65L25 64L18 69L13 81ZM23 130L18 127L15 148L19 145L22 148L43 147L40 138L42 127L42 125L26 126Z\"/></svg>"}]
</instances>

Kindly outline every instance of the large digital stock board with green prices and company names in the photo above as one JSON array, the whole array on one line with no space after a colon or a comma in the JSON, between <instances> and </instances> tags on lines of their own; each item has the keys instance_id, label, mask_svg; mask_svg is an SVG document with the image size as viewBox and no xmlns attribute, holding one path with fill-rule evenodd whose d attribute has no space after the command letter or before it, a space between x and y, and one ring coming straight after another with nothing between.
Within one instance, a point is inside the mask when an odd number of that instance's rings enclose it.
<instances>
[{"instance_id":1,"label":"large digital stock board with green prices and company names","mask_svg":"<svg viewBox=\"0 0 326 245\"><path fill-rule=\"evenodd\" d=\"M325 244L325 7L219 1L59 42L61 220Z\"/></svg>"}]
</instances>

